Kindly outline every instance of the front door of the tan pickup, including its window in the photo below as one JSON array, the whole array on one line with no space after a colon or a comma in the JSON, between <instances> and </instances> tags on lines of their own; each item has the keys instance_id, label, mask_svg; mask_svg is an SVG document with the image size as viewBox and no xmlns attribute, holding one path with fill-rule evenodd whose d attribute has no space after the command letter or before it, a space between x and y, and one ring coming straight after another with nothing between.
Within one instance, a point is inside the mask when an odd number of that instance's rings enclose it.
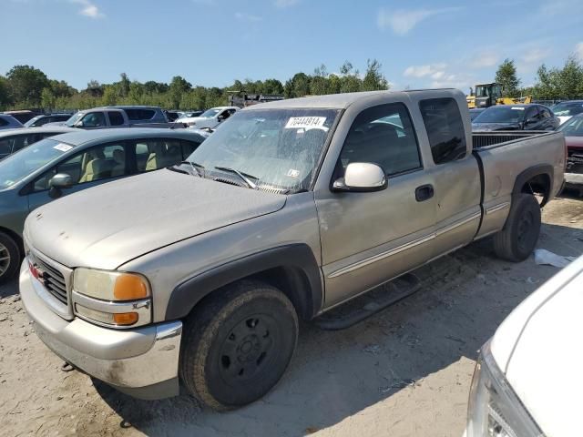
<instances>
[{"instance_id":1,"label":"front door of the tan pickup, including its window","mask_svg":"<svg viewBox=\"0 0 583 437\"><path fill-rule=\"evenodd\" d=\"M383 168L388 187L368 193L315 190L326 307L430 257L434 181L424 171L413 121L403 103L368 107L353 119L331 186L353 162Z\"/></svg>"}]
</instances>

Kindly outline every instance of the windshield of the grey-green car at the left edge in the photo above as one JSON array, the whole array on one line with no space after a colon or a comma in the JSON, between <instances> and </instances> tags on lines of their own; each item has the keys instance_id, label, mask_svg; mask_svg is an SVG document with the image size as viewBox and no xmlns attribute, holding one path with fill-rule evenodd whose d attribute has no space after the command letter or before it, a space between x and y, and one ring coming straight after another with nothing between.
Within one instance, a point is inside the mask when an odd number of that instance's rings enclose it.
<instances>
[{"instance_id":1,"label":"windshield of the grey-green car at the left edge","mask_svg":"<svg viewBox=\"0 0 583 437\"><path fill-rule=\"evenodd\" d=\"M72 146L45 138L0 161L0 190L10 188L36 169L45 166Z\"/></svg>"}]
</instances>

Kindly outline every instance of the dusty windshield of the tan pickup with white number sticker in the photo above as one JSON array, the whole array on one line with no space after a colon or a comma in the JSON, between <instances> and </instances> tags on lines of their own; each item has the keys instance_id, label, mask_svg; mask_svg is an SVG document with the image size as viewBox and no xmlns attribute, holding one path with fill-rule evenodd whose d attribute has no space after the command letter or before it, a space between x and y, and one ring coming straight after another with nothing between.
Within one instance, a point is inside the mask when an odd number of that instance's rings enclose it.
<instances>
[{"instance_id":1,"label":"dusty windshield of the tan pickup with white number sticker","mask_svg":"<svg viewBox=\"0 0 583 437\"><path fill-rule=\"evenodd\" d=\"M236 169L252 177L259 188L308 189L338 113L300 108L241 111L206 139L189 161L206 171Z\"/></svg>"}]
</instances>

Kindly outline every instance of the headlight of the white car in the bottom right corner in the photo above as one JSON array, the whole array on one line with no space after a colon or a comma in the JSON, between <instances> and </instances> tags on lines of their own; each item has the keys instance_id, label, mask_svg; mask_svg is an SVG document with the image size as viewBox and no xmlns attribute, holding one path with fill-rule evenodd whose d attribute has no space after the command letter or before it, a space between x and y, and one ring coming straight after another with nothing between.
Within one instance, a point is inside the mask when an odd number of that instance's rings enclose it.
<instances>
[{"instance_id":1,"label":"headlight of the white car in the bottom right corner","mask_svg":"<svg viewBox=\"0 0 583 437\"><path fill-rule=\"evenodd\" d=\"M467 412L467 437L541 437L543 432L512 390L488 341L476 364Z\"/></svg>"}]
</instances>

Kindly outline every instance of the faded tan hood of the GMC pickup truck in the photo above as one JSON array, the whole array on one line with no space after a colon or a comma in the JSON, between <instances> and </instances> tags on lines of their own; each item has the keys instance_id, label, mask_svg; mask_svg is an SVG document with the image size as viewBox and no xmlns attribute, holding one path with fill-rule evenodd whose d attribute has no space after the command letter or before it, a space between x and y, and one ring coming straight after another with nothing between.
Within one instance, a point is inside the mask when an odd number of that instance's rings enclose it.
<instances>
[{"instance_id":1,"label":"faded tan hood of the GMC pickup truck","mask_svg":"<svg viewBox=\"0 0 583 437\"><path fill-rule=\"evenodd\" d=\"M163 169L37 208L25 235L68 267L117 269L183 239L275 212L286 197Z\"/></svg>"}]
</instances>

